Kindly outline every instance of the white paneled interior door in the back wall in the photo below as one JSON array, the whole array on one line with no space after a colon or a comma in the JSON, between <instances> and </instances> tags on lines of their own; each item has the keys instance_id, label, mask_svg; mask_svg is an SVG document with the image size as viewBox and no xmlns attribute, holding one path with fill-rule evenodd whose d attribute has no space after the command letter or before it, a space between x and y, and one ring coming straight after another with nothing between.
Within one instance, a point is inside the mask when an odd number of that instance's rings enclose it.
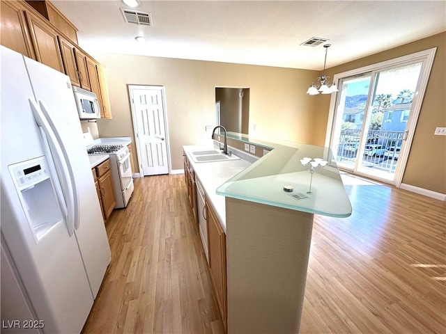
<instances>
[{"instance_id":1,"label":"white paneled interior door in the back wall","mask_svg":"<svg viewBox=\"0 0 446 334\"><path fill-rule=\"evenodd\" d=\"M139 173L169 174L164 88L129 86Z\"/></svg>"}]
</instances>

